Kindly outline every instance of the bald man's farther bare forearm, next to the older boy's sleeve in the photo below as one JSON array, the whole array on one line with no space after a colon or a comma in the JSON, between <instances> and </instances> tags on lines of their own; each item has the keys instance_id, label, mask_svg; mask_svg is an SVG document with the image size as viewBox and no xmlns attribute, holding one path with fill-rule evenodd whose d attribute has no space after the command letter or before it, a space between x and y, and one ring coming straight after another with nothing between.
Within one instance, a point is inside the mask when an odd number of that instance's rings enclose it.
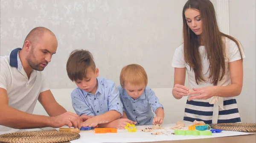
<instances>
[{"instance_id":1,"label":"bald man's farther bare forearm, next to the older boy's sleeve","mask_svg":"<svg viewBox=\"0 0 256 143\"><path fill-rule=\"evenodd\" d=\"M42 104L49 116L58 116L67 112L66 109L57 103L50 90L41 92L39 94L38 101Z\"/></svg>"}]
</instances>

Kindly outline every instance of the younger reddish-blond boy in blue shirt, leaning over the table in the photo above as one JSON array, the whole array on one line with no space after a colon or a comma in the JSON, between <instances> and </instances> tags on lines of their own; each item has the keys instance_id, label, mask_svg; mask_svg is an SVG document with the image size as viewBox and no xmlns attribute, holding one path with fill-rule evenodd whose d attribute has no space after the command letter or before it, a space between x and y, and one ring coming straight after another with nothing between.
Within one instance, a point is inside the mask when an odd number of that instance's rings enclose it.
<instances>
[{"instance_id":1,"label":"younger reddish-blond boy in blue shirt, leaning over the table","mask_svg":"<svg viewBox=\"0 0 256 143\"><path fill-rule=\"evenodd\" d=\"M139 64L129 64L122 68L120 85L117 87L123 104L121 118L135 121L137 125L163 123L163 105L160 104L154 91L147 87L147 84L148 76Z\"/></svg>"}]
</instances>

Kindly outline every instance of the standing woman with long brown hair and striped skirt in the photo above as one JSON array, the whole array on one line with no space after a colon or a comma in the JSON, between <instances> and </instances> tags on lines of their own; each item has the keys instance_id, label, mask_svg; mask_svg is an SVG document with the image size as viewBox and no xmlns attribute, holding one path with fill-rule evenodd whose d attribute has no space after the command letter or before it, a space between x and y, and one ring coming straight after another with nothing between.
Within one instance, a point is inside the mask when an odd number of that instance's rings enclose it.
<instances>
[{"instance_id":1,"label":"standing woman with long brown hair and striped skirt","mask_svg":"<svg viewBox=\"0 0 256 143\"><path fill-rule=\"evenodd\" d=\"M243 85L243 48L219 31L210 0L188 0L183 8L183 44L174 53L172 94L188 96L184 121L241 122L235 96ZM189 88L185 87L186 72Z\"/></svg>"}]
</instances>

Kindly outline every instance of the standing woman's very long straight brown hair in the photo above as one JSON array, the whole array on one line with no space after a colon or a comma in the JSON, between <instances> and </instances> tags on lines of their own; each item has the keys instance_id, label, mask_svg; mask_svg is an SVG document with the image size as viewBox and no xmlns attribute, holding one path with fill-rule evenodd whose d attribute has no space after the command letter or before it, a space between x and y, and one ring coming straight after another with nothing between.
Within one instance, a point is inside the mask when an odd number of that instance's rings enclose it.
<instances>
[{"instance_id":1,"label":"standing woman's very long straight brown hair","mask_svg":"<svg viewBox=\"0 0 256 143\"><path fill-rule=\"evenodd\" d=\"M186 64L190 66L195 73L195 81L206 81L202 74L201 56L199 53L200 40L198 36L189 28L185 19L185 11L187 8L194 8L200 11L202 30L201 39L203 39L206 48L207 59L209 60L209 79L213 85L217 85L225 74L225 44L222 36L233 40L241 49L238 41L232 36L221 33L218 28L214 6L209 0L188 0L183 7L183 39L184 39L184 59ZM242 58L242 56L241 56Z\"/></svg>"}]
</instances>

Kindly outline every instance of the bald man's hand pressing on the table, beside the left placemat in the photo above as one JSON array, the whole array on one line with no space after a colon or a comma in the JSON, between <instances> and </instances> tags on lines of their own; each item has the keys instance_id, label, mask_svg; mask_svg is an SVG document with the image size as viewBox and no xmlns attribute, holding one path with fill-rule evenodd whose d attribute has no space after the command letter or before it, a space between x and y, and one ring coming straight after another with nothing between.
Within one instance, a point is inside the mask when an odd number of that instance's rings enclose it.
<instances>
[{"instance_id":1,"label":"bald man's hand pressing on the table, beside the left placemat","mask_svg":"<svg viewBox=\"0 0 256 143\"><path fill-rule=\"evenodd\" d=\"M69 126L76 128L81 128L81 119L84 120L85 117L79 118L78 115L72 112L65 112L61 115L50 117L50 124L53 128L59 128L61 126Z\"/></svg>"}]
</instances>

